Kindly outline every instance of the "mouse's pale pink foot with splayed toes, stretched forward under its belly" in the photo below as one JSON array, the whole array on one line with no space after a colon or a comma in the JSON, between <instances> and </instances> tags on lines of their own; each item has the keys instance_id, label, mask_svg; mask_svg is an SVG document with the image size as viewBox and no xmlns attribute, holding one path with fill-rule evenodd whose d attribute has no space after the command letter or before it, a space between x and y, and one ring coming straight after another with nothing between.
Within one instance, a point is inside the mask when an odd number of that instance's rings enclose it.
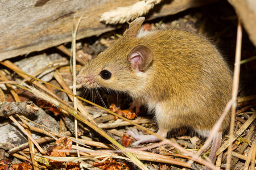
<instances>
[{"instance_id":1,"label":"mouse's pale pink foot with splayed toes, stretched forward under its belly","mask_svg":"<svg viewBox=\"0 0 256 170\"><path fill-rule=\"evenodd\" d=\"M134 142L132 145L137 146L141 143L149 143L149 142L156 142L160 141L158 137L155 137L155 135L143 135L142 131L137 131L134 128L127 128L126 134L133 137L136 142Z\"/></svg>"}]
</instances>

